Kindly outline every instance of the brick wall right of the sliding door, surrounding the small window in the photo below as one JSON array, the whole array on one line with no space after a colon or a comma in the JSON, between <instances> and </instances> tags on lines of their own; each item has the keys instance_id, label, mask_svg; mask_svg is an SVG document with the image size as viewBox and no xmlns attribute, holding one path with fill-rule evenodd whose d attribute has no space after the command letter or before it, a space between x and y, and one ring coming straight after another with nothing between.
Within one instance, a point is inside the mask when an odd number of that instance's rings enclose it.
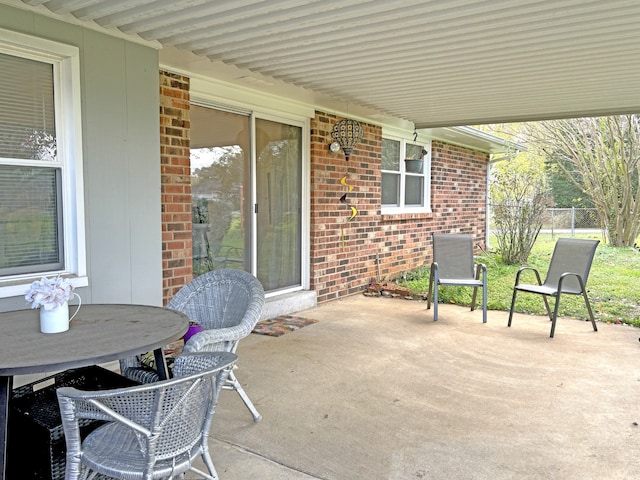
<instances>
[{"instance_id":1,"label":"brick wall right of the sliding door, surrounding the small window","mask_svg":"<svg viewBox=\"0 0 640 480\"><path fill-rule=\"evenodd\" d=\"M381 215L382 130L363 125L346 162L328 150L338 120L317 112L311 122L311 288L319 303L429 263L433 231L472 233L484 246L487 154L433 142L432 213ZM351 221L344 193L358 209Z\"/></svg>"}]
</instances>

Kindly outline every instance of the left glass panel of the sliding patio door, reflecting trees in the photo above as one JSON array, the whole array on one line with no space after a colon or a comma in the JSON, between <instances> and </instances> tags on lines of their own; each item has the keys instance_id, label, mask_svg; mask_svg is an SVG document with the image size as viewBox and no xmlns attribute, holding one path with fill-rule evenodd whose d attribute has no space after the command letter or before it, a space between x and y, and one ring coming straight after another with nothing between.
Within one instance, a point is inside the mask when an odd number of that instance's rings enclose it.
<instances>
[{"instance_id":1,"label":"left glass panel of the sliding patio door, reflecting trees","mask_svg":"<svg viewBox=\"0 0 640 480\"><path fill-rule=\"evenodd\" d=\"M193 274L251 271L250 117L191 106Z\"/></svg>"}]
</instances>

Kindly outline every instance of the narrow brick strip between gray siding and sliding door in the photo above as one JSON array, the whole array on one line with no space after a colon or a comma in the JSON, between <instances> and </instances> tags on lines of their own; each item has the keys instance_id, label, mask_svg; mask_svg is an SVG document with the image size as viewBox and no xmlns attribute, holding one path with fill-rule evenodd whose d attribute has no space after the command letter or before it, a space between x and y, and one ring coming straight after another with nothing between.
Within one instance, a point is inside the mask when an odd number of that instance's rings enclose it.
<instances>
[{"instance_id":1,"label":"narrow brick strip between gray siding and sliding door","mask_svg":"<svg viewBox=\"0 0 640 480\"><path fill-rule=\"evenodd\" d=\"M189 78L160 72L162 292L166 304L192 278Z\"/></svg>"}]
</instances>

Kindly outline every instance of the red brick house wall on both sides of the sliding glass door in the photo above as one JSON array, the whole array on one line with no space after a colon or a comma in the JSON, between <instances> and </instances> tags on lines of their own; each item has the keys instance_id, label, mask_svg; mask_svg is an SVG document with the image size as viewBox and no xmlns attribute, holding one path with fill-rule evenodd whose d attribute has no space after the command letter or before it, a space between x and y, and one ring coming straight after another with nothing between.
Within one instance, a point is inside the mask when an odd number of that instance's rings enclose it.
<instances>
[{"instance_id":1,"label":"red brick house wall on both sides of the sliding glass door","mask_svg":"<svg viewBox=\"0 0 640 480\"><path fill-rule=\"evenodd\" d=\"M166 304L192 278L189 79L160 72L160 88ZM429 263L433 231L472 233L484 246L487 154L433 142L432 212L381 215L382 130L364 124L364 138L347 162L342 151L328 149L338 120L317 112L311 121L310 272L318 302L360 293L371 280ZM345 193L358 210L353 220L340 202Z\"/></svg>"}]
</instances>

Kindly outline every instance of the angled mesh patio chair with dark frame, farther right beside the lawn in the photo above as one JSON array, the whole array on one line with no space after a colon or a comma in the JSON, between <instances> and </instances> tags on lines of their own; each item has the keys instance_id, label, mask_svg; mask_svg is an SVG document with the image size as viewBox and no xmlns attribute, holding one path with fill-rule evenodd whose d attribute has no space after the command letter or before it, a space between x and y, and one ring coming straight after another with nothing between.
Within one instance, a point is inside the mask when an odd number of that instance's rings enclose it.
<instances>
[{"instance_id":1,"label":"angled mesh patio chair with dark frame, farther right beside the lawn","mask_svg":"<svg viewBox=\"0 0 640 480\"><path fill-rule=\"evenodd\" d=\"M558 307L560 306L560 295L566 293L568 295L582 295L584 303L587 306L587 311L589 312L591 325L593 325L593 331L597 332L598 327L596 327L596 322L593 318L591 304L589 303L589 297L587 297L586 285L587 279L589 278L589 271L591 270L591 262L593 262L593 256L596 253L598 243L600 243L600 240L559 238L553 249L549 270L547 271L547 278L545 278L544 283L540 281L540 274L535 268L520 268L516 274L516 283L513 287L513 297L511 298L509 322L507 325L509 327L511 326L513 308L516 304L516 294L518 292L536 293L542 295L544 300L544 306L551 320L551 334L549 336L553 338L556 330L556 319L558 318ZM520 283L520 275L527 270L532 270L535 273L538 282L537 285ZM547 297L555 297L553 314L549 308Z\"/></svg>"}]
</instances>

